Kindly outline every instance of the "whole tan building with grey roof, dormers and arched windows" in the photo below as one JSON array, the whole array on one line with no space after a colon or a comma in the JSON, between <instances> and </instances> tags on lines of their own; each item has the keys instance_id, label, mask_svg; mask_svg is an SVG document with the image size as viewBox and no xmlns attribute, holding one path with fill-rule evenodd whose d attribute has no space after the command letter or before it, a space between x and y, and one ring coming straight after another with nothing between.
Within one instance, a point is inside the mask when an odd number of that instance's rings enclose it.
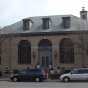
<instances>
[{"instance_id":1,"label":"whole tan building with grey roof, dormers and arched windows","mask_svg":"<svg viewBox=\"0 0 88 88\"><path fill-rule=\"evenodd\" d=\"M1 45L0 69L88 67L85 51L74 44L79 41L79 31L88 30L87 11L80 17L73 15L37 16L22 19L1 30L5 36ZM5 50L4 50L4 49ZM2 51L1 50L1 51ZM85 54L85 55L84 55Z\"/></svg>"}]
</instances>

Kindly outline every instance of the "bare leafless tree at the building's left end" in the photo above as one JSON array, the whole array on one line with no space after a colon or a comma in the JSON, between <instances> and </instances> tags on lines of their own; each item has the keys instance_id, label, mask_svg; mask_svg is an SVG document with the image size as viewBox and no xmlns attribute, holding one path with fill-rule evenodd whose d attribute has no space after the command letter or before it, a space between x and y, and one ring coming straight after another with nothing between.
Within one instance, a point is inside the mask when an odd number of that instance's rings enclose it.
<instances>
[{"instance_id":1,"label":"bare leafless tree at the building's left end","mask_svg":"<svg viewBox=\"0 0 88 88\"><path fill-rule=\"evenodd\" d=\"M11 68L11 47L12 47L12 40L17 39L17 37L19 36L18 33L14 34L14 33L9 33L7 29L0 30L0 62L1 62L1 54L4 52L8 52L8 56L9 56L9 69ZM15 43L13 44L15 45Z\"/></svg>"}]
</instances>

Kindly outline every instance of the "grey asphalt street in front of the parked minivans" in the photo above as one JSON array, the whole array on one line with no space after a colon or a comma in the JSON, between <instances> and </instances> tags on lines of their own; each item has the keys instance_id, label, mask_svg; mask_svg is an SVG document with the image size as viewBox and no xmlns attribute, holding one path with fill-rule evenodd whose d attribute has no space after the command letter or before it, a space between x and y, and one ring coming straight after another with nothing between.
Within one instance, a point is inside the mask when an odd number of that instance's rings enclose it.
<instances>
[{"instance_id":1,"label":"grey asphalt street in front of the parked minivans","mask_svg":"<svg viewBox=\"0 0 88 88\"><path fill-rule=\"evenodd\" d=\"M0 81L0 88L88 88L88 82L11 82Z\"/></svg>"}]
</instances>

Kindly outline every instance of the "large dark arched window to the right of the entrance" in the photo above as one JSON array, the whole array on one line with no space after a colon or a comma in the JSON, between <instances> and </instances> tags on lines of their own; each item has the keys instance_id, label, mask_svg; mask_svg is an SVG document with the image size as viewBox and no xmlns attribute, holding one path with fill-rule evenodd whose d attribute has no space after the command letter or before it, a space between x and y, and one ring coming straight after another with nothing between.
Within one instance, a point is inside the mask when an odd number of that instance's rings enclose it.
<instances>
[{"instance_id":1,"label":"large dark arched window to the right of the entrance","mask_svg":"<svg viewBox=\"0 0 88 88\"><path fill-rule=\"evenodd\" d=\"M60 63L74 63L74 44L68 38L60 42Z\"/></svg>"}]
</instances>

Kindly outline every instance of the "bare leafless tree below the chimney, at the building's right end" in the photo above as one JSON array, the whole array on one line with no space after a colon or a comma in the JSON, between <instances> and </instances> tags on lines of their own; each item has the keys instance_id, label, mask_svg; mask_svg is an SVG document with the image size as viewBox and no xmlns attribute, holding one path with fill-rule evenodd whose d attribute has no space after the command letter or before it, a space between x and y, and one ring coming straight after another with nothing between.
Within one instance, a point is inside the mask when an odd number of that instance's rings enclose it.
<instances>
[{"instance_id":1,"label":"bare leafless tree below the chimney, at the building's right end","mask_svg":"<svg viewBox=\"0 0 88 88\"><path fill-rule=\"evenodd\" d=\"M88 28L87 25L81 23L78 24L77 29L73 32L73 41L76 48L80 48L81 51L75 53L82 55L82 67L84 67L84 56L88 55Z\"/></svg>"}]
</instances>

